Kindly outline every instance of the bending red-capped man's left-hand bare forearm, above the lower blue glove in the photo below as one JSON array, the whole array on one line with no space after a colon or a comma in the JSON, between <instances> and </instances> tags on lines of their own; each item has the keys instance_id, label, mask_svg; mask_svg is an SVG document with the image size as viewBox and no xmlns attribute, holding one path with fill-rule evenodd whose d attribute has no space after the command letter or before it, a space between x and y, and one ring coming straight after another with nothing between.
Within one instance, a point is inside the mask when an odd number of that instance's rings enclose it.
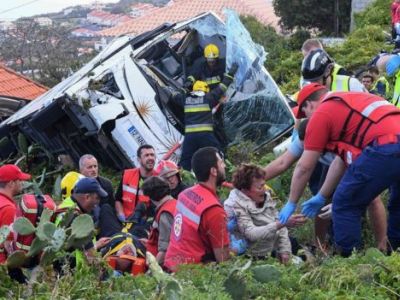
<instances>
[{"instance_id":1,"label":"bending red-capped man's left-hand bare forearm, above the lower blue glove","mask_svg":"<svg viewBox=\"0 0 400 300\"><path fill-rule=\"evenodd\" d=\"M294 169L292 183L290 185L289 199L297 203L307 186L307 182L318 162L321 153L305 150Z\"/></svg>"}]
</instances>

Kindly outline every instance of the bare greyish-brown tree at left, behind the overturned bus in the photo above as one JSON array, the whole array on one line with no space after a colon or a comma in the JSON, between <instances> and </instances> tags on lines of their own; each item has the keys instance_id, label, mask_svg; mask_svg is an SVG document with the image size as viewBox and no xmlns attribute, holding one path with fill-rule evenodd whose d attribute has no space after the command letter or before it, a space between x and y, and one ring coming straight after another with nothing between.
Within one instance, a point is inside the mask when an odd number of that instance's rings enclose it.
<instances>
[{"instance_id":1,"label":"bare greyish-brown tree at left, behind the overturned bus","mask_svg":"<svg viewBox=\"0 0 400 300\"><path fill-rule=\"evenodd\" d=\"M69 28L40 26L32 19L20 19L14 28L0 32L0 47L3 61L47 86L57 84L84 62Z\"/></svg>"}]
</instances>

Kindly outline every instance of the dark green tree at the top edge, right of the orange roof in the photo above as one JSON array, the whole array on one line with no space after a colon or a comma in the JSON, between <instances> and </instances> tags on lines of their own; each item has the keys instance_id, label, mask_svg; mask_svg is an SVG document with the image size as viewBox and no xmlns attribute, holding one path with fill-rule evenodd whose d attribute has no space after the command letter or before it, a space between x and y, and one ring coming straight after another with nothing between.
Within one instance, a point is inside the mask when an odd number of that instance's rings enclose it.
<instances>
[{"instance_id":1,"label":"dark green tree at the top edge, right of the orange roof","mask_svg":"<svg viewBox=\"0 0 400 300\"><path fill-rule=\"evenodd\" d=\"M350 27L351 0L274 0L273 5L288 30L318 29L339 36Z\"/></svg>"}]
</instances>

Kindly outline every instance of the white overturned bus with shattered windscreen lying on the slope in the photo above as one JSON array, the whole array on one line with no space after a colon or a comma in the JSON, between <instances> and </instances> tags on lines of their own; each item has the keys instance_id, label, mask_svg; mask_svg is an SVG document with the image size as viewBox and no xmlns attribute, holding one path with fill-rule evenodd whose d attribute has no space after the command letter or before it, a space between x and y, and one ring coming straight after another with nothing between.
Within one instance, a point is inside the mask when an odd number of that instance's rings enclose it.
<instances>
[{"instance_id":1,"label":"white overturned bus with shattered windscreen lying on the slope","mask_svg":"<svg viewBox=\"0 0 400 300\"><path fill-rule=\"evenodd\" d=\"M91 153L116 169L133 166L142 144L153 145L158 158L178 160L183 111L165 99L163 88L181 89L209 43L219 47L228 69L239 64L216 114L221 142L251 141L258 148L289 132L293 114L263 66L266 53L229 11L225 23L208 12L113 40L83 68L5 120L0 139L15 144L22 133L54 155L78 161Z\"/></svg>"}]
</instances>

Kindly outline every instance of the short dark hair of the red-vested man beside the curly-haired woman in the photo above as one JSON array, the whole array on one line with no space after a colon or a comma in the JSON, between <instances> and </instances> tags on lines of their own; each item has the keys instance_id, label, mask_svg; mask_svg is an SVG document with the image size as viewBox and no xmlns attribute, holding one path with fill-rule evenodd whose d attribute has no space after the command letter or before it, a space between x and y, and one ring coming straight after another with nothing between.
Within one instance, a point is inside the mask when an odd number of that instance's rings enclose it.
<instances>
[{"instance_id":1,"label":"short dark hair of the red-vested man beside the curly-haired woman","mask_svg":"<svg viewBox=\"0 0 400 300\"><path fill-rule=\"evenodd\" d=\"M204 147L193 154L192 169L198 181L208 180L211 168L217 166L217 153L219 151L215 147Z\"/></svg>"}]
</instances>

